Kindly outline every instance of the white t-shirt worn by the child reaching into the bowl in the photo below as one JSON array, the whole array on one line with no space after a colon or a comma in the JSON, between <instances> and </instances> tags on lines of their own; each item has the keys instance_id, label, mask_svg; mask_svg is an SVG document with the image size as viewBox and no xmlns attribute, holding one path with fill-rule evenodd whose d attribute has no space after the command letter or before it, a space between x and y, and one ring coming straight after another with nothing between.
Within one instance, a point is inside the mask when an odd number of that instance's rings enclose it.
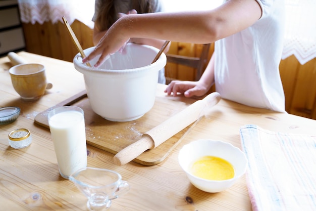
<instances>
[{"instance_id":1,"label":"white t-shirt worn by the child reaching into the bowl","mask_svg":"<svg viewBox=\"0 0 316 211\"><path fill-rule=\"evenodd\" d=\"M252 26L215 43L215 86L224 99L285 111L279 73L284 1L256 0L262 16Z\"/></svg>"}]
</instances>

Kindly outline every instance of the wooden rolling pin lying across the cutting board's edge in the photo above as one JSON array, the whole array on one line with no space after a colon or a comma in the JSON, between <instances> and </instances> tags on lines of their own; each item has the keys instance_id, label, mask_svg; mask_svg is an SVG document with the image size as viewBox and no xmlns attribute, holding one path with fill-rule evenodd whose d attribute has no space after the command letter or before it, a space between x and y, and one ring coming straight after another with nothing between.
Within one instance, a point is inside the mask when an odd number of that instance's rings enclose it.
<instances>
[{"instance_id":1,"label":"wooden rolling pin lying across the cutting board's edge","mask_svg":"<svg viewBox=\"0 0 316 211\"><path fill-rule=\"evenodd\" d=\"M215 106L220 100L220 94L214 92L207 95L204 99L192 103L176 115L143 134L140 140L119 151L114 156L114 163L124 165L147 149L159 146L204 115L206 108Z\"/></svg>"}]
</instances>

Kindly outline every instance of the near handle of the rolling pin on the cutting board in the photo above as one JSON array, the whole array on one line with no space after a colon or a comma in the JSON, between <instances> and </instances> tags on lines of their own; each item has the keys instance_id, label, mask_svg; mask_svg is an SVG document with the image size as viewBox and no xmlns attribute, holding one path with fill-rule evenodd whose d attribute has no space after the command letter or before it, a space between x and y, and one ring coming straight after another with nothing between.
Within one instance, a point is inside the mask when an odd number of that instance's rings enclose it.
<instances>
[{"instance_id":1,"label":"near handle of the rolling pin on the cutting board","mask_svg":"<svg viewBox=\"0 0 316 211\"><path fill-rule=\"evenodd\" d=\"M153 147L154 142L151 137L144 134L141 139L119 151L113 158L114 163L117 165L124 165L147 149L152 149Z\"/></svg>"}]
</instances>

